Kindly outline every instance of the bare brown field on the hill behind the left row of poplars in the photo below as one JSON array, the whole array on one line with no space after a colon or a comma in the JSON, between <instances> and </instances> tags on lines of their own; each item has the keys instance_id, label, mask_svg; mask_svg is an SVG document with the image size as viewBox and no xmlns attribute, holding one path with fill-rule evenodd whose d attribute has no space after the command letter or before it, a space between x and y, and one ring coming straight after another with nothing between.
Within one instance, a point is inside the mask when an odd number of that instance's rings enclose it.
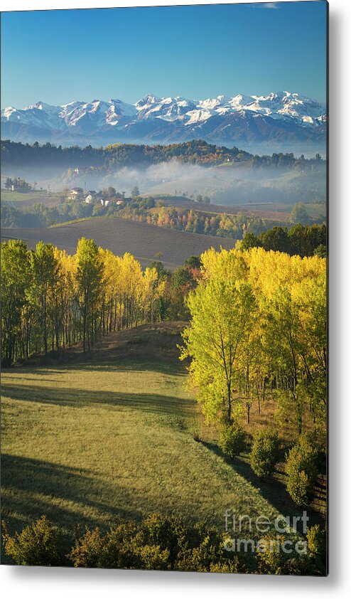
<instances>
[{"instance_id":1,"label":"bare brown field on the hill behind the left row of poplars","mask_svg":"<svg viewBox=\"0 0 351 599\"><path fill-rule=\"evenodd\" d=\"M92 238L114 254L132 253L143 267L157 259L171 270L182 265L189 256L200 255L208 248L229 249L235 245L232 239L185 233L121 218L91 218L53 228L3 228L1 236L3 240L22 239L29 248L42 240L73 254L78 239Z\"/></svg>"}]
</instances>

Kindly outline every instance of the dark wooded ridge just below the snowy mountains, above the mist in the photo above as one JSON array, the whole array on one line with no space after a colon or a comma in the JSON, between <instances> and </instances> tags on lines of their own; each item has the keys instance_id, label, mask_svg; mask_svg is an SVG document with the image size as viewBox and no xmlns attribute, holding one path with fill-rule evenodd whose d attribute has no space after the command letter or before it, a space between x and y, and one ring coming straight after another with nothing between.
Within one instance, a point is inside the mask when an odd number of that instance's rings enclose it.
<instances>
[{"instance_id":1,"label":"dark wooded ridge just below the snowy mountains, above the mist","mask_svg":"<svg viewBox=\"0 0 351 599\"><path fill-rule=\"evenodd\" d=\"M227 148L215 144L207 144L201 139L193 139L181 144L168 146L144 144L109 144L107 147L94 148L91 145L62 147L47 142L46 144L22 144L6 139L1 142L1 160L4 166L61 166L61 167L105 167L109 166L150 166L176 159L189 164L225 164L244 162L247 166L259 169L277 167L284 169L311 169L318 164L325 164L316 154L313 159L305 159L293 154L272 154L271 156L253 156L237 147Z\"/></svg>"}]
</instances>

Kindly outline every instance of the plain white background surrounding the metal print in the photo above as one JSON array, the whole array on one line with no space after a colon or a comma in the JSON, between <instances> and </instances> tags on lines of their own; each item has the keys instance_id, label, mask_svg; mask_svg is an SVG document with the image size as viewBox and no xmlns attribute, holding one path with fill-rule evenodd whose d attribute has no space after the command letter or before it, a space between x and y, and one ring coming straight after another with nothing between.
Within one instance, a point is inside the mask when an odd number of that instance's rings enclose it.
<instances>
[{"instance_id":1,"label":"plain white background surrounding the metal print","mask_svg":"<svg viewBox=\"0 0 351 599\"><path fill-rule=\"evenodd\" d=\"M303 1L303 0L302 0ZM107 6L168 6L214 4L211 1L50 1L50 9L104 8ZM222 4L236 4L222 1ZM2 0L2 11L48 9L44 0ZM217 598L242 593L260 599L284 596L296 599L344 596L351 587L350 541L347 509L350 506L350 55L351 2L330 0L330 576L287 578L205 573L156 573L140 571L85 571L64 568L1 566L4 596L26 599L62 599L76 593L85 599L118 594L152 599ZM292 48L293 51L293 48ZM347 585L348 583L348 585ZM350 591L349 591L350 592Z\"/></svg>"}]
</instances>

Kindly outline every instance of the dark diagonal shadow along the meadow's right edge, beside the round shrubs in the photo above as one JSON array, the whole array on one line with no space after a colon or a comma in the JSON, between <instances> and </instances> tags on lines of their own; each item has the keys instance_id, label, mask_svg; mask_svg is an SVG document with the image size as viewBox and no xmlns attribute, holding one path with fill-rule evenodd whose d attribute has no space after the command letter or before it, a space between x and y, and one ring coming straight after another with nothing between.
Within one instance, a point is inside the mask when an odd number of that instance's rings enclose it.
<instances>
[{"instance_id":1,"label":"dark diagonal shadow along the meadow's right edge, beside the round shrubs","mask_svg":"<svg viewBox=\"0 0 351 599\"><path fill-rule=\"evenodd\" d=\"M237 474L244 477L244 479L252 484L253 487L259 489L261 496L264 497L264 499L266 499L271 505L273 505L281 514L290 517L302 515L302 510L293 502L290 495L286 491L285 485L281 481L273 477L260 479L257 477L257 475L255 475L252 468L247 462L245 462L245 460L242 460L240 457L235 457L234 460L231 460L215 443L207 441L201 442L202 445L207 447L207 449L222 457L227 465L232 467ZM312 524L324 524L323 517L318 514L317 511L311 508L306 509L306 511L309 517L308 526L311 526Z\"/></svg>"}]
</instances>

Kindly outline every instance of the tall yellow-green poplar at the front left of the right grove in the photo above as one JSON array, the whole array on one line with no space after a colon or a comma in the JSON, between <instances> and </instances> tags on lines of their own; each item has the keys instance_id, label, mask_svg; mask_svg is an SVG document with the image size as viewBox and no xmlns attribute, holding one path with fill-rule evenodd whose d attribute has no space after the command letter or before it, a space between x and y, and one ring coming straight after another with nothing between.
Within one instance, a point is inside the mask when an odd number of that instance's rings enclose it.
<instances>
[{"instance_id":1,"label":"tall yellow-green poplar at the front left of the right grove","mask_svg":"<svg viewBox=\"0 0 351 599\"><path fill-rule=\"evenodd\" d=\"M190 378L198 388L207 421L221 413L232 423L237 362L249 339L254 311L251 286L244 280L210 280L190 292L190 327L181 359L190 357Z\"/></svg>"}]
</instances>

